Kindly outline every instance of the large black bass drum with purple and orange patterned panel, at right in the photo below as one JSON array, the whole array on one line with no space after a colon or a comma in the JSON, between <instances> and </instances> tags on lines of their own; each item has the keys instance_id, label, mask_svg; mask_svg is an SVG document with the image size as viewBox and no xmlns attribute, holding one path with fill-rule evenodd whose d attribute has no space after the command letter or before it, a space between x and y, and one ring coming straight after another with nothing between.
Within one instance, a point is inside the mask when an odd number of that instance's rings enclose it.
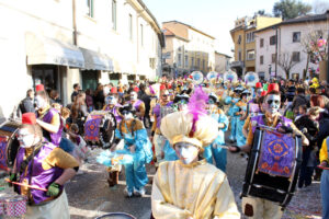
<instances>
[{"instance_id":1,"label":"large black bass drum with purple and orange patterned panel, at right","mask_svg":"<svg viewBox=\"0 0 329 219\"><path fill-rule=\"evenodd\" d=\"M248 160L242 197L291 201L302 164L302 138L258 127Z\"/></svg>"}]
</instances>

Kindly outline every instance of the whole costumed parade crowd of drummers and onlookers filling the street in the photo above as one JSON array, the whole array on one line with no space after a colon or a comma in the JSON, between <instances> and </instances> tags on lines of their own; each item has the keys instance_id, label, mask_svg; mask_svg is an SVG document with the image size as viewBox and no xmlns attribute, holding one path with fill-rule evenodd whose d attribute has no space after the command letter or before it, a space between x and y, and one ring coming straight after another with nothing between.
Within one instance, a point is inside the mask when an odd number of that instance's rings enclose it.
<instances>
[{"instance_id":1,"label":"whole costumed parade crowd of drummers and onlookers filling the street","mask_svg":"<svg viewBox=\"0 0 329 219\"><path fill-rule=\"evenodd\" d=\"M67 106L43 84L29 90L8 169L9 184L27 198L24 217L69 218L65 184L100 147L110 187L125 169L127 198L145 195L146 164L156 166L150 218L279 219L314 181L329 218L329 85L228 74L162 76L95 91L73 84ZM248 160L241 212L225 174L228 152Z\"/></svg>"}]
</instances>

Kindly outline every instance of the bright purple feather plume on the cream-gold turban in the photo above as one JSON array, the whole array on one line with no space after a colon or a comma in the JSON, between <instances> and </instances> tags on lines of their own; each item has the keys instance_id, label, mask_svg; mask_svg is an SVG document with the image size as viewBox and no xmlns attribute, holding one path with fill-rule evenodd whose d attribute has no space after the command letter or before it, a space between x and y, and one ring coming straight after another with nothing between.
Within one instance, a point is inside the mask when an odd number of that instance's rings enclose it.
<instances>
[{"instance_id":1,"label":"bright purple feather plume on the cream-gold turban","mask_svg":"<svg viewBox=\"0 0 329 219\"><path fill-rule=\"evenodd\" d=\"M192 129L189 134L189 136L192 138L195 131L195 123L198 120L198 117L202 114L206 114L206 103L208 102L208 94L206 94L202 87L197 87L194 90L194 93L190 97L188 110L193 115L193 124Z\"/></svg>"}]
</instances>

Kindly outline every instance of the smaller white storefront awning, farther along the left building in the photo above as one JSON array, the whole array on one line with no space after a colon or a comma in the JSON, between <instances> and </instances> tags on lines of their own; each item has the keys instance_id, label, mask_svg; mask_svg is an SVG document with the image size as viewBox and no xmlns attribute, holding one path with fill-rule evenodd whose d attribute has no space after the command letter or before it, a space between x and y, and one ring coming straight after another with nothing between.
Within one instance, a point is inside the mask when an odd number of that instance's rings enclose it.
<instances>
[{"instance_id":1,"label":"smaller white storefront awning, farther along the left building","mask_svg":"<svg viewBox=\"0 0 329 219\"><path fill-rule=\"evenodd\" d=\"M113 61L109 56L87 48L80 48L80 50L84 58L84 69L113 71Z\"/></svg>"}]
</instances>

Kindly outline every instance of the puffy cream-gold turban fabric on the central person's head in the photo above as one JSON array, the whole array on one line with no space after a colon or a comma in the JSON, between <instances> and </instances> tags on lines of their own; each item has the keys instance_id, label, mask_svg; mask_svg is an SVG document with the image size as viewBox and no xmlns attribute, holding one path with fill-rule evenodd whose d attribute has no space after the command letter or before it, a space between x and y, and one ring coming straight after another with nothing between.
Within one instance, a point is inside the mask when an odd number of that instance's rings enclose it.
<instances>
[{"instance_id":1,"label":"puffy cream-gold turban fabric on the central person's head","mask_svg":"<svg viewBox=\"0 0 329 219\"><path fill-rule=\"evenodd\" d=\"M171 145L182 142L188 139L192 129L193 115L188 111L175 112L167 115L161 119L161 134L170 141ZM197 142L197 147L205 147L212 143L218 136L218 123L207 115L200 115L198 120L195 123L195 131L193 135L194 140L185 142ZM181 140L181 141L179 141ZM192 142L193 141L193 142ZM194 145L194 143L193 143Z\"/></svg>"}]
</instances>

